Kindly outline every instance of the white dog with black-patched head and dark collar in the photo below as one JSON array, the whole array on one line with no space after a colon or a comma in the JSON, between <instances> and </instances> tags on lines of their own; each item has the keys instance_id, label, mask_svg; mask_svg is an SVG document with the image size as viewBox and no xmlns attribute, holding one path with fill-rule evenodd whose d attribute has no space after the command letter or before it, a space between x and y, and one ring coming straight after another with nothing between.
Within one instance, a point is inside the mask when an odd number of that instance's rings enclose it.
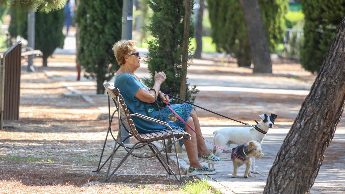
<instances>
[{"instance_id":1,"label":"white dog with black-patched head and dark collar","mask_svg":"<svg viewBox=\"0 0 345 194\"><path fill-rule=\"evenodd\" d=\"M259 144L262 144L264 137L269 128L273 127L274 119L277 118L277 115L271 114L267 116L266 114L259 116L262 120L255 125L255 127L227 127L219 129L213 132L213 143L221 148L224 148L226 145L230 147L231 144L242 145L246 144L249 141L257 141ZM219 157L223 151L213 147L213 153L215 156ZM255 171L255 157L252 157L252 173L259 173ZM212 164L212 168L214 164Z\"/></svg>"}]
</instances>

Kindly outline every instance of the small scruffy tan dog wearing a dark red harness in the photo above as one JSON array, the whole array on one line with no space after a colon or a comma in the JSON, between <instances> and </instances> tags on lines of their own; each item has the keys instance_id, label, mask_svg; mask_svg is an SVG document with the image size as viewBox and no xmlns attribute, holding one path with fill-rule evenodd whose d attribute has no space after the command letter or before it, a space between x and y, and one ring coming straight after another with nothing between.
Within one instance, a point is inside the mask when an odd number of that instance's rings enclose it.
<instances>
[{"instance_id":1,"label":"small scruffy tan dog wearing a dark red harness","mask_svg":"<svg viewBox=\"0 0 345 194\"><path fill-rule=\"evenodd\" d=\"M231 177L236 177L237 167L243 164L246 164L244 177L248 178L248 176L252 176L252 174L250 174L249 171L250 165L252 164L252 158L250 157L263 157L264 154L261 151L261 145L259 144L259 142L256 141L250 141L244 145L239 145L236 148L233 148L233 152L231 153L231 159L233 160L234 174Z\"/></svg>"}]
</instances>

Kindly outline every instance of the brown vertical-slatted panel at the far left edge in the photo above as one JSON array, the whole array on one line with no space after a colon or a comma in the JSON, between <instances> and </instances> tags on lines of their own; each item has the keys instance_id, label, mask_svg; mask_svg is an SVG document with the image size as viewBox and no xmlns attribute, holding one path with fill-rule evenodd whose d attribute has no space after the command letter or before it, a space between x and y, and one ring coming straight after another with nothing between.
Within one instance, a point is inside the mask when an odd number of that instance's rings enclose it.
<instances>
[{"instance_id":1,"label":"brown vertical-slatted panel at the far left edge","mask_svg":"<svg viewBox=\"0 0 345 194\"><path fill-rule=\"evenodd\" d=\"M2 129L3 120L19 119L21 41L4 52L0 64L0 129Z\"/></svg>"}]
</instances>

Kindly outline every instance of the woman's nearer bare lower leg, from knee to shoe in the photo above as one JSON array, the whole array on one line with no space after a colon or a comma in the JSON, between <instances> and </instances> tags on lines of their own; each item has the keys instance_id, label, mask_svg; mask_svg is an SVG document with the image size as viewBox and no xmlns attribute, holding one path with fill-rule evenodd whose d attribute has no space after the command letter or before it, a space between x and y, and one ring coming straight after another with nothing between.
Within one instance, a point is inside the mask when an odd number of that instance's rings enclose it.
<instances>
[{"instance_id":1,"label":"woman's nearer bare lower leg, from knee to shoe","mask_svg":"<svg viewBox=\"0 0 345 194\"><path fill-rule=\"evenodd\" d=\"M194 128L194 121L192 117L187 120L188 125ZM189 133L191 136L190 140L183 140L185 144L187 156L189 159L189 165L195 168L202 168L203 166L199 163L198 158L198 145L197 145L197 135L187 126L185 126L185 132Z\"/></svg>"}]
</instances>

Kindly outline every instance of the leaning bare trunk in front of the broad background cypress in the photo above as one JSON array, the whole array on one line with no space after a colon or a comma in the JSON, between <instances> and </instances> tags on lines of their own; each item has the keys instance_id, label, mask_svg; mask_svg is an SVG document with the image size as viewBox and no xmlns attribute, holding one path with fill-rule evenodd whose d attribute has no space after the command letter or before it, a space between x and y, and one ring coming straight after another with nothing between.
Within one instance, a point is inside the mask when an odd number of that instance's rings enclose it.
<instances>
[{"instance_id":1,"label":"leaning bare trunk in front of the broad background cypress","mask_svg":"<svg viewBox=\"0 0 345 194\"><path fill-rule=\"evenodd\" d=\"M244 13L252 51L253 72L272 73L272 62L258 0L239 0L239 2Z\"/></svg>"}]
</instances>

